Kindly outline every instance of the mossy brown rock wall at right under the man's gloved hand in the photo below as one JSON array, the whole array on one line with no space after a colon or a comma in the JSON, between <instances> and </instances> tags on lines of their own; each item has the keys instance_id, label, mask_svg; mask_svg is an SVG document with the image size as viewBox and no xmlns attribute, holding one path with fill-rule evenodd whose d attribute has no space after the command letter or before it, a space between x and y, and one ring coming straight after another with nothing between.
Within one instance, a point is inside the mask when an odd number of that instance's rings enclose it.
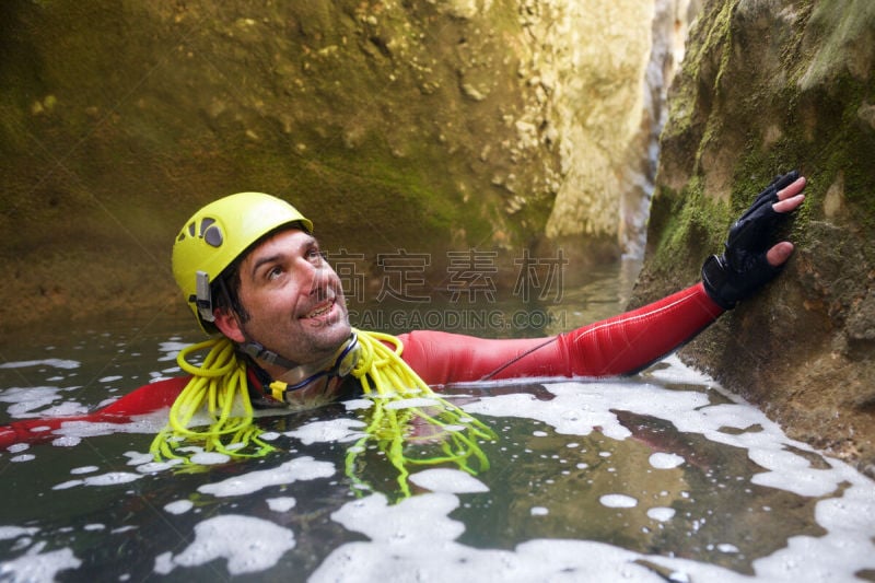
<instances>
[{"instance_id":1,"label":"mossy brown rock wall at right under the man's gloved hand","mask_svg":"<svg viewBox=\"0 0 875 583\"><path fill-rule=\"evenodd\" d=\"M682 355L875 475L875 3L708 0L669 95L637 303L692 282L778 172L795 256Z\"/></svg>"}]
</instances>

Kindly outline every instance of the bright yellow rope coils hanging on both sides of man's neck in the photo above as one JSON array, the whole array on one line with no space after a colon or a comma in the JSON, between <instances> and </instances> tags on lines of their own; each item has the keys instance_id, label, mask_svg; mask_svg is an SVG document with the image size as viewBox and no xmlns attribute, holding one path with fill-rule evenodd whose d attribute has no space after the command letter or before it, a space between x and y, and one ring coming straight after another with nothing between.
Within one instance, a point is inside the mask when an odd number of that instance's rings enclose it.
<instances>
[{"instance_id":1,"label":"bright yellow rope coils hanging on both sides of man's neck","mask_svg":"<svg viewBox=\"0 0 875 583\"><path fill-rule=\"evenodd\" d=\"M360 381L373 407L369 410L364 435L347 453L350 479L363 485L358 477L358 463L372 441L397 469L398 486L405 497L410 494L408 465L453 463L470 474L488 469L489 460L478 441L493 440L492 431L438 396L401 360L404 346L398 338L355 331L361 354L352 375ZM208 349L200 366L189 362L192 353ZM261 431L253 423L246 364L237 359L230 340L217 338L186 347L176 360L183 371L191 375L191 381L171 407L167 425L152 442L150 451L155 459L189 462L191 454L184 446L191 442L202 443L207 452L231 457L262 456L273 451L258 438ZM428 405L405 407L404 400L411 398L428 399ZM196 417L203 412L206 419ZM423 428L429 430L425 435L417 435L416 431L422 432ZM440 444L443 455L411 457L405 453L409 443ZM476 462L477 468L471 462Z\"/></svg>"}]
</instances>

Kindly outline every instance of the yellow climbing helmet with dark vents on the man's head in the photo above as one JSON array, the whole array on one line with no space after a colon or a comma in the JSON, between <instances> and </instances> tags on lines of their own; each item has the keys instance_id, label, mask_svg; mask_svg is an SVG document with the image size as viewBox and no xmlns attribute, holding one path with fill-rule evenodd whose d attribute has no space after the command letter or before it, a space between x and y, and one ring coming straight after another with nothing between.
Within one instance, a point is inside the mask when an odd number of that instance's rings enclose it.
<instances>
[{"instance_id":1,"label":"yellow climbing helmet with dark vents on the man's head","mask_svg":"<svg viewBox=\"0 0 875 583\"><path fill-rule=\"evenodd\" d=\"M203 331L218 331L210 293L215 278L259 238L295 223L313 232L298 209L262 193L220 198L186 221L173 244L173 277Z\"/></svg>"}]
</instances>

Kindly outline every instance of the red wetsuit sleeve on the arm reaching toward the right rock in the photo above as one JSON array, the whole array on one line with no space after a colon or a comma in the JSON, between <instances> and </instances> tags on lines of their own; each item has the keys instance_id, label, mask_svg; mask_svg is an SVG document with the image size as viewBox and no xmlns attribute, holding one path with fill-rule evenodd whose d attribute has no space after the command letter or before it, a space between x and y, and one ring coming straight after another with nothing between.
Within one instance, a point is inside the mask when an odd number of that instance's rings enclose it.
<instances>
[{"instance_id":1,"label":"red wetsuit sleeve on the arm reaching toward the right rock","mask_svg":"<svg viewBox=\"0 0 875 583\"><path fill-rule=\"evenodd\" d=\"M672 352L723 313L701 283L641 308L549 338L401 335L402 358L429 385L521 377L616 376Z\"/></svg>"}]
</instances>

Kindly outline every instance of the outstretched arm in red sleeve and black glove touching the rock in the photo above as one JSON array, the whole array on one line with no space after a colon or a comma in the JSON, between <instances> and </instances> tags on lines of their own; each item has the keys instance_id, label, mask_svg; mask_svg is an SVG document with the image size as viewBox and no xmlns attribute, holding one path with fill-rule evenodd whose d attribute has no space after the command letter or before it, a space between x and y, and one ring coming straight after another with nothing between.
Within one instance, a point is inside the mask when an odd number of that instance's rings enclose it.
<instances>
[{"instance_id":1,"label":"outstretched arm in red sleeve and black glove touching the rock","mask_svg":"<svg viewBox=\"0 0 875 583\"><path fill-rule=\"evenodd\" d=\"M710 257L703 282L639 310L557 337L487 340L435 331L404 335L404 359L431 385L500 378L630 374L677 349L773 278L793 244L774 231L804 200L805 178L779 176Z\"/></svg>"}]
</instances>

